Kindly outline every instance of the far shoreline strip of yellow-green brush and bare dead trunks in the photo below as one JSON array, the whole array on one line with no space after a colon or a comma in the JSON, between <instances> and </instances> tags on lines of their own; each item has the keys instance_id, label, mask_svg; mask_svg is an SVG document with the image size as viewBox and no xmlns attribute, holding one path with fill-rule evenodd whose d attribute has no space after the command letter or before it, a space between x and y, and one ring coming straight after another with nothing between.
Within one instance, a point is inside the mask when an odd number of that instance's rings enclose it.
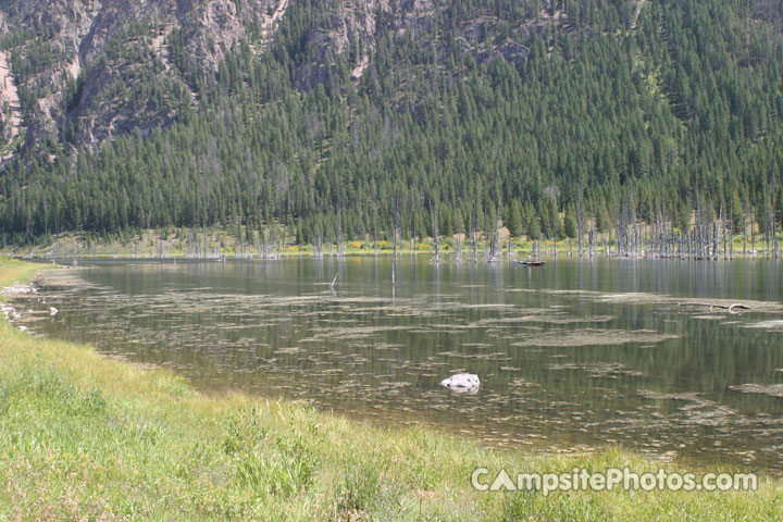
<instances>
[{"instance_id":1,"label":"far shoreline strip of yellow-green brush and bare dead trunks","mask_svg":"<svg viewBox=\"0 0 783 522\"><path fill-rule=\"evenodd\" d=\"M714 229L717 231L717 229ZM712 231L712 232L714 232ZM330 258L344 256L428 256L433 260L494 262L558 256L613 257L632 259L732 260L734 258L780 259L779 235L716 235L709 231L674 235L663 240L651 228L639 228L631 237L596 235L589 243L572 237L558 240L512 237L507 227L494 234L424 237L415 239L365 237L334 243L299 244L285 226L261 231L245 227L161 228L95 235L90 233L50 236L38 244L0 249L22 259L283 259L286 257ZM629 243L631 241L631 243Z\"/></svg>"}]
</instances>

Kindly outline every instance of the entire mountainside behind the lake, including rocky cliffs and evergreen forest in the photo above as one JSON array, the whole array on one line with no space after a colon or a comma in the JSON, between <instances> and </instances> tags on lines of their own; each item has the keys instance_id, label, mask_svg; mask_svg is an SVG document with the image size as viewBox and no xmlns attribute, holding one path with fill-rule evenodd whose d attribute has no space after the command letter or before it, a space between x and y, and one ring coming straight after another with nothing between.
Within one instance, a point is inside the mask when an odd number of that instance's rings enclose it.
<instances>
[{"instance_id":1,"label":"entire mountainside behind the lake, including rocky cliffs and evergreen forest","mask_svg":"<svg viewBox=\"0 0 783 522\"><path fill-rule=\"evenodd\" d=\"M3 241L780 222L780 9L739 0L5 0ZM54 29L48 29L54 27ZM13 111L12 111L13 112ZM8 116L7 116L8 117ZM622 219L621 219L622 217ZM584 229L581 231L585 233Z\"/></svg>"}]
</instances>

